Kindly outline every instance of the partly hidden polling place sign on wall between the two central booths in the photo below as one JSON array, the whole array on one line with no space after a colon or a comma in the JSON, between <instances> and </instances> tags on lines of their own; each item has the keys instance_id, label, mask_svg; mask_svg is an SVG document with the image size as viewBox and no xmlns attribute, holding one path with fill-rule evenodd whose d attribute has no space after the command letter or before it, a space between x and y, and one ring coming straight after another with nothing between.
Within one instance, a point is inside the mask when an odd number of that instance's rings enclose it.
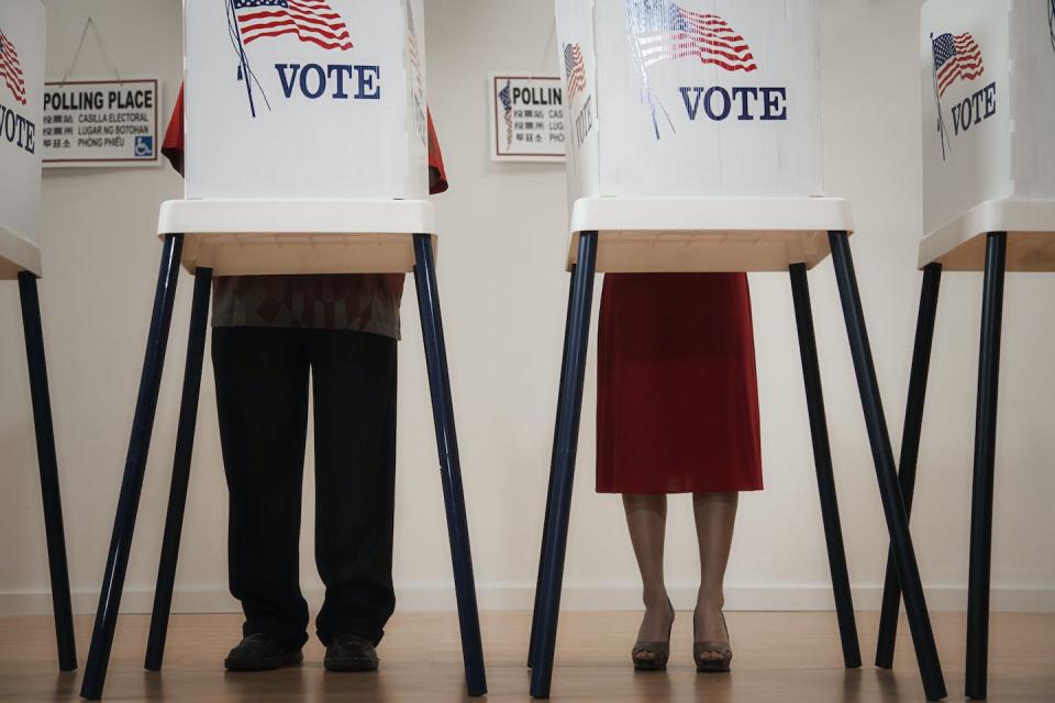
<instances>
[{"instance_id":1,"label":"partly hidden polling place sign on wall between the two central booths","mask_svg":"<svg viewBox=\"0 0 1055 703\"><path fill-rule=\"evenodd\" d=\"M563 161L564 81L558 76L491 75L491 159Z\"/></svg>"}]
</instances>

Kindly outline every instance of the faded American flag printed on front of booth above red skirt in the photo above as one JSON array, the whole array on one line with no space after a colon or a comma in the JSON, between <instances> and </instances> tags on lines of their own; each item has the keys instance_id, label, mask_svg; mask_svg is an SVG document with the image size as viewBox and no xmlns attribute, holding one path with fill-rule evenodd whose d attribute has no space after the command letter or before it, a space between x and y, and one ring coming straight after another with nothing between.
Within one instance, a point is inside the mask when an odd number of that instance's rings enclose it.
<instances>
[{"instance_id":1,"label":"faded American flag printed on front of booth above red skirt","mask_svg":"<svg viewBox=\"0 0 1055 703\"><path fill-rule=\"evenodd\" d=\"M758 68L751 46L717 14L692 12L668 0L631 0L634 38L644 67L695 58L730 71Z\"/></svg>"}]
</instances>

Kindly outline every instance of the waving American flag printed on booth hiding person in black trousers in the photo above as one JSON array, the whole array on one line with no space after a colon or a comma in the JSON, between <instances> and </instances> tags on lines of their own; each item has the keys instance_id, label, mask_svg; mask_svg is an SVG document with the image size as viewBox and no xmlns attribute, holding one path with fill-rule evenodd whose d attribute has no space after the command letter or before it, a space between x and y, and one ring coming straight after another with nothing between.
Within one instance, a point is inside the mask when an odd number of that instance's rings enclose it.
<instances>
[{"instance_id":1,"label":"waving American flag printed on booth hiding person in black trousers","mask_svg":"<svg viewBox=\"0 0 1055 703\"><path fill-rule=\"evenodd\" d=\"M352 48L348 27L326 0L233 0L245 44L296 34L323 48Z\"/></svg>"}]
</instances>

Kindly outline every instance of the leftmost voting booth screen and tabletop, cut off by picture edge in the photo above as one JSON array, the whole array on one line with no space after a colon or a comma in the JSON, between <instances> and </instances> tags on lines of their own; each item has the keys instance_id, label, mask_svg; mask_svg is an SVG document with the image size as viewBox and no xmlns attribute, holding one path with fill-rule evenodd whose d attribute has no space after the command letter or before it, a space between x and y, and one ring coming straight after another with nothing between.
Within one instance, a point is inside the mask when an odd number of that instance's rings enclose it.
<instances>
[{"instance_id":1,"label":"leftmost voting booth screen and tabletop, cut off by picture edge","mask_svg":"<svg viewBox=\"0 0 1055 703\"><path fill-rule=\"evenodd\" d=\"M40 274L44 5L0 2L0 277Z\"/></svg>"}]
</instances>

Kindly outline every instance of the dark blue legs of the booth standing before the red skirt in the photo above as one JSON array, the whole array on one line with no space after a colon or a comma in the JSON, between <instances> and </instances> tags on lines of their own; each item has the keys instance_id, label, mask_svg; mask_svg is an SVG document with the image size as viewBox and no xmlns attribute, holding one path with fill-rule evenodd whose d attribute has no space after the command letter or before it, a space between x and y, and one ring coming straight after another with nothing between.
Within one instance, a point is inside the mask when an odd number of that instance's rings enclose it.
<instances>
[{"instance_id":1,"label":"dark blue legs of the booth standing before the red skirt","mask_svg":"<svg viewBox=\"0 0 1055 703\"><path fill-rule=\"evenodd\" d=\"M549 698L553 679L557 616L564 579L568 522L571 512L571 488L575 478L579 417L582 410L582 387L586 375L586 353L589 344L590 305L593 295L593 276L597 268L598 236L599 233L596 231L580 233L577 264L571 267L571 289L568 295L568 312L565 323L564 358L557 398L549 488L546 499L542 554L538 561L538 581L535 589L534 615L528 654L528 666L532 669L531 695L536 699ZM865 326L864 310L860 293L857 289L857 278L848 239L849 234L847 232L829 232L829 246L832 253L846 332L849 337L862 409L875 461L876 477L879 482L884 515L891 539L891 565L896 573L900 574L900 582L903 584L906 611L915 645L915 656L920 666L924 693L929 701L937 701L946 698L945 680L909 533L908 509L906 501L902 500L901 486L893 462L893 450L890 446L890 436L884 417L879 383L868 342L868 332ZM795 301L799 352L802 359L824 535L843 646L843 660L847 668L857 668L860 667L860 650L854 623L849 580L846 573L846 558L839 521L839 506L835 498L834 475L806 266L803 264L792 264L789 267L789 275Z\"/></svg>"}]
</instances>

